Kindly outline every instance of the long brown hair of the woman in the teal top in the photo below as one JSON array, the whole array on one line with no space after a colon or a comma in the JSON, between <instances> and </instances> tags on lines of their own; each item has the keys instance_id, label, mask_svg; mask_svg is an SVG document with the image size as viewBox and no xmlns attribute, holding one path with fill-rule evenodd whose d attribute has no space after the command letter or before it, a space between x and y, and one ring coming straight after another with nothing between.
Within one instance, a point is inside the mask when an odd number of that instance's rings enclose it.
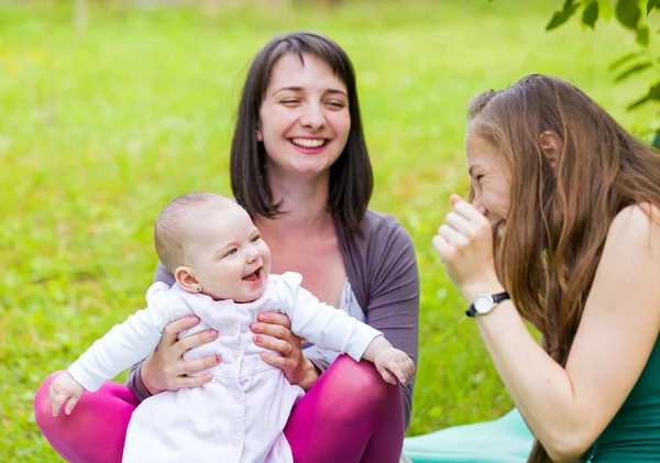
<instances>
[{"instance_id":1,"label":"long brown hair of the woman in the teal top","mask_svg":"<svg viewBox=\"0 0 660 463\"><path fill-rule=\"evenodd\" d=\"M468 117L512 172L497 273L564 366L612 221L627 206L660 205L660 157L580 89L543 75L476 95ZM539 145L544 132L561 140L554 164ZM549 461L537 440L528 462Z\"/></svg>"}]
</instances>

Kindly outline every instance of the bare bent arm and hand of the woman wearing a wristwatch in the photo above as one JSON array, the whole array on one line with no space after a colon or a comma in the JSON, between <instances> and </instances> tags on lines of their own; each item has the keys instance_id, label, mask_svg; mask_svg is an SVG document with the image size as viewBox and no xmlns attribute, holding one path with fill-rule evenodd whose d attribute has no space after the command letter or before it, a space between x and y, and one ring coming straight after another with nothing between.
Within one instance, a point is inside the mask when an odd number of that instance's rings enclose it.
<instances>
[{"instance_id":1,"label":"bare bent arm and hand of the woman wearing a wristwatch","mask_svg":"<svg viewBox=\"0 0 660 463\"><path fill-rule=\"evenodd\" d=\"M472 234L466 230L463 238L479 240L491 233L474 208L460 208L459 213L481 229ZM487 273L479 271L484 258L472 252L479 251L475 242L451 241L435 243L469 301L481 293L503 290L492 266ZM507 390L554 461L582 456L632 389L660 331L658 282L660 227L639 207L629 207L610 225L565 368L536 343L510 301L477 318Z\"/></svg>"}]
</instances>

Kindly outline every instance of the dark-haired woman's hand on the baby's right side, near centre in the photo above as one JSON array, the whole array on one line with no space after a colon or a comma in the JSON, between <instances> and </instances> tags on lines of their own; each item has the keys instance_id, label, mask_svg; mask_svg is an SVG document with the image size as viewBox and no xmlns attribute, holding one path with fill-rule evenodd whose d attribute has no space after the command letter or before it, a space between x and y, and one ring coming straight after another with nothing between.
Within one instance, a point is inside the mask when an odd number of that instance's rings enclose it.
<instances>
[{"instance_id":1,"label":"dark-haired woman's hand on the baby's right side, near centre","mask_svg":"<svg viewBox=\"0 0 660 463\"><path fill-rule=\"evenodd\" d=\"M300 338L292 332L289 318L284 313L263 312L258 315L257 320L250 324L250 330L256 334L254 343L282 353L282 356L277 356L264 352L264 362L280 367L289 383L309 390L318 379L319 373L314 363L302 355Z\"/></svg>"}]
</instances>

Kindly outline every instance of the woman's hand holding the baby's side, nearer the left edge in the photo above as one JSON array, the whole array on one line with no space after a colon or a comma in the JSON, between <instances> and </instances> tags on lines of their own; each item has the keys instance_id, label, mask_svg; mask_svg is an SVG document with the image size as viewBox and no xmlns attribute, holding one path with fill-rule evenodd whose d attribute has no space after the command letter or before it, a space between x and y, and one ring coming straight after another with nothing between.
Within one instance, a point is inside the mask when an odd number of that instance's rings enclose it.
<instances>
[{"instance_id":1,"label":"woman's hand holding the baby's side, nearer the left edge","mask_svg":"<svg viewBox=\"0 0 660 463\"><path fill-rule=\"evenodd\" d=\"M163 390L178 390L183 387L201 386L211 381L212 375L187 376L205 368L218 365L220 355L210 355L200 360L186 361L185 352L193 348L213 341L218 338L215 330L201 331L177 340L178 333L199 323L197 317L183 317L169 322L163 330L156 350L144 361L141 377L144 386L152 395Z\"/></svg>"}]
</instances>

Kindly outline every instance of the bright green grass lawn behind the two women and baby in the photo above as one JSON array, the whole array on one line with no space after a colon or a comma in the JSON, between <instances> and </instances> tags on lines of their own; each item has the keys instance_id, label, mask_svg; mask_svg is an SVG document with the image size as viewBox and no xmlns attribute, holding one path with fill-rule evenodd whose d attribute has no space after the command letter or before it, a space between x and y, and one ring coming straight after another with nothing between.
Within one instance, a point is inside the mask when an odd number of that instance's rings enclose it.
<instances>
[{"instance_id":1,"label":"bright green grass lawn behind the two women and baby","mask_svg":"<svg viewBox=\"0 0 660 463\"><path fill-rule=\"evenodd\" d=\"M408 436L512 407L430 245L449 194L468 186L468 99L541 71L570 79L630 130L651 118L624 110L640 80L615 87L607 71L632 37L614 23L593 33L575 21L544 33L561 2L228 3L209 14L111 2L90 8L81 36L70 7L0 5L2 462L59 461L34 423L34 390L143 307L160 209L190 190L230 194L242 79L274 33L312 29L349 52L375 168L372 207L398 218L417 247L420 361Z\"/></svg>"}]
</instances>

